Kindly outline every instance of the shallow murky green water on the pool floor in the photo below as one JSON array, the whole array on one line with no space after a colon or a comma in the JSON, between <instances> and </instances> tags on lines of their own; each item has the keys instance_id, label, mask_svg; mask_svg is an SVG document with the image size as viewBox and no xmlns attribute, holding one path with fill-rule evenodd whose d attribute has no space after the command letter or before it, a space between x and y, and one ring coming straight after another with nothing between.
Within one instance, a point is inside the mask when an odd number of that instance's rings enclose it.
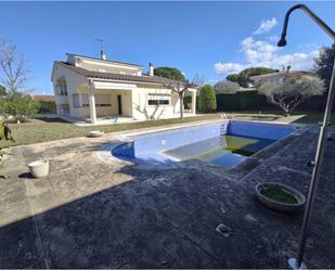
<instances>
[{"instance_id":1,"label":"shallow murky green water on the pool floor","mask_svg":"<svg viewBox=\"0 0 335 270\"><path fill-rule=\"evenodd\" d=\"M210 138L163 153L177 160L195 158L217 166L232 167L273 142L274 140L269 139L224 136L224 138Z\"/></svg>"}]
</instances>

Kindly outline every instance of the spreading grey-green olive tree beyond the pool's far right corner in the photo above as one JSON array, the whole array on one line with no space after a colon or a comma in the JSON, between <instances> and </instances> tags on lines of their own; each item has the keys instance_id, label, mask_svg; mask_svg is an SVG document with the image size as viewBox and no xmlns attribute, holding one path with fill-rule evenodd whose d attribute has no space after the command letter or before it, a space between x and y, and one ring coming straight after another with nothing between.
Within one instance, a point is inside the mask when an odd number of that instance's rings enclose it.
<instances>
[{"instance_id":1,"label":"spreading grey-green olive tree beyond the pool's far right corner","mask_svg":"<svg viewBox=\"0 0 335 270\"><path fill-rule=\"evenodd\" d=\"M265 79L259 82L258 92L268 101L280 106L285 116L304 102L306 98L324 92L323 81L318 78L284 76L276 80Z\"/></svg>"}]
</instances>

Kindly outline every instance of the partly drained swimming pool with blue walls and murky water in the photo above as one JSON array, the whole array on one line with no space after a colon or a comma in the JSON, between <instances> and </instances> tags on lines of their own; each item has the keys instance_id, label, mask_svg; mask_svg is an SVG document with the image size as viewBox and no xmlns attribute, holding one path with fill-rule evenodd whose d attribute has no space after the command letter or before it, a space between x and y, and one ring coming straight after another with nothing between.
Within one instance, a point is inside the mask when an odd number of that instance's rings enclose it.
<instances>
[{"instance_id":1,"label":"partly drained swimming pool with blue walls and murky water","mask_svg":"<svg viewBox=\"0 0 335 270\"><path fill-rule=\"evenodd\" d=\"M291 125L229 120L129 136L112 155L153 165L198 159L230 168L294 130Z\"/></svg>"}]
</instances>

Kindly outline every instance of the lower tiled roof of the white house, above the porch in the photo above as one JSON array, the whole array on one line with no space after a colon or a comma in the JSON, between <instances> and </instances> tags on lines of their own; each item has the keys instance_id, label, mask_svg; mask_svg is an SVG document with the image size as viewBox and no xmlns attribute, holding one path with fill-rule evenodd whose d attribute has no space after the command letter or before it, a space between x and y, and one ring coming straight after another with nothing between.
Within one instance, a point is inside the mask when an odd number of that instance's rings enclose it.
<instances>
[{"instance_id":1,"label":"lower tiled roof of the white house, above the porch","mask_svg":"<svg viewBox=\"0 0 335 270\"><path fill-rule=\"evenodd\" d=\"M173 79L168 79L159 76L134 76L134 75L124 75L124 74L116 74L116 73L101 73L101 72L93 72L82 67L73 66L66 62L56 61L55 63L77 73L87 78L96 78L96 79L111 79L111 80L127 80L127 81L137 81L137 82L151 82L151 83L182 83L183 81L178 81Z\"/></svg>"}]
</instances>

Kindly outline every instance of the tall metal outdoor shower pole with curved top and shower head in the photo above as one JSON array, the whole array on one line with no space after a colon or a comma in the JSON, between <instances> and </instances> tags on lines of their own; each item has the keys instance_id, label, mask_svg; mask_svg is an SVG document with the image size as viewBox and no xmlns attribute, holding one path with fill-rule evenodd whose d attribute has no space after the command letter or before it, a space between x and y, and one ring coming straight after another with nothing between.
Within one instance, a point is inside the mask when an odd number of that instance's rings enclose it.
<instances>
[{"instance_id":1,"label":"tall metal outdoor shower pole with curved top and shower head","mask_svg":"<svg viewBox=\"0 0 335 270\"><path fill-rule=\"evenodd\" d=\"M288 18L292 12L297 9L305 11L307 15L309 15L326 34L331 36L331 38L335 40L335 33L333 31L331 27L328 27L320 17L318 17L305 4L296 4L286 12L281 40L278 42L279 47L286 46L286 31L287 31L287 26L288 26ZM333 72L332 72L327 101L326 101L324 116L323 116L323 123L320 128L318 147L317 147L317 153L315 153L315 158L314 158L314 167L313 167L311 183L309 187L309 192L308 192L308 197L307 197L307 204L306 204L306 210L305 210L305 216L304 216L304 221L302 221L302 227L301 227L301 235L300 235L300 241L299 241L297 258L296 259L292 258L288 260L288 263L293 269L305 268L302 263L302 258L304 258L305 246L306 246L306 241L308 236L308 229L309 229L308 226L310 222L314 197L315 197L317 188L318 188L318 182L320 179L321 166L322 166L324 150L325 150L327 128L330 124L333 101L335 97L335 68L334 67L335 67L335 60L334 60L334 66L333 66Z\"/></svg>"}]
</instances>

